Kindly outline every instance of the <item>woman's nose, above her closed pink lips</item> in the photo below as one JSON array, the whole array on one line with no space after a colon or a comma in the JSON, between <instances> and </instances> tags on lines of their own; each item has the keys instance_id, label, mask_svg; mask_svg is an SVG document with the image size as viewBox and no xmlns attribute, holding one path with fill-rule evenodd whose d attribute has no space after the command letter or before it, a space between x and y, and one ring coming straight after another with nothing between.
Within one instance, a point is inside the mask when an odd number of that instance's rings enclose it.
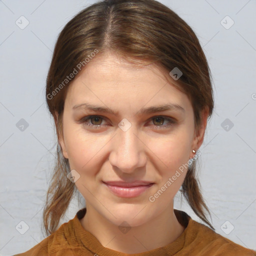
<instances>
[{"instance_id":1,"label":"woman's nose, above her closed pink lips","mask_svg":"<svg viewBox=\"0 0 256 256\"><path fill-rule=\"evenodd\" d=\"M126 131L117 129L111 139L109 162L122 172L132 173L146 164L145 144L141 141L133 125Z\"/></svg>"}]
</instances>

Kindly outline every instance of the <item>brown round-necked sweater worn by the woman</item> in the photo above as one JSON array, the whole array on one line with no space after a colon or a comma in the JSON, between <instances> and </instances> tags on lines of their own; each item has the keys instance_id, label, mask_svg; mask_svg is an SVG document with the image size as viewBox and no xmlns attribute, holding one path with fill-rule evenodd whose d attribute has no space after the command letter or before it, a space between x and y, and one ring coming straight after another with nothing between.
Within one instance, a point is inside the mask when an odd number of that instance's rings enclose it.
<instances>
[{"instance_id":1,"label":"brown round-necked sweater worn by the woman","mask_svg":"<svg viewBox=\"0 0 256 256\"><path fill-rule=\"evenodd\" d=\"M171 243L150 251L127 254L104 247L86 231L79 219L86 208L73 219L63 223L55 232L30 250L14 256L255 256L256 251L242 247L215 233L209 227L194 221L184 211L174 209L177 220L185 227L183 233Z\"/></svg>"}]
</instances>

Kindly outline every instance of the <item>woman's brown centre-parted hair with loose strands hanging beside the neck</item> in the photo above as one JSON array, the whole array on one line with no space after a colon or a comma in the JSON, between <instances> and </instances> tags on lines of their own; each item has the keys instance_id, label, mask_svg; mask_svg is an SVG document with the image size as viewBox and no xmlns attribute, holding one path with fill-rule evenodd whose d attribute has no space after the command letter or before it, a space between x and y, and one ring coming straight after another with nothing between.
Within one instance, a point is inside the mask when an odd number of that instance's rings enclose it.
<instances>
[{"instance_id":1,"label":"woman's brown centre-parted hair with loose strands hanging beside the neck","mask_svg":"<svg viewBox=\"0 0 256 256\"><path fill-rule=\"evenodd\" d=\"M155 63L168 74L174 67L182 75L172 84L191 101L194 124L202 123L201 113L213 110L211 75L206 57L190 26L175 12L156 0L102 0L80 12L67 22L58 35L46 78L46 102L52 114L57 138L63 136L62 114L68 86L73 78L67 75L86 68L85 59L92 52L114 52L130 62ZM65 84L63 83L65 82ZM61 86L62 85L62 86ZM46 235L54 232L64 215L75 184L67 178L68 159L56 146L56 162L43 209ZM210 215L195 176L195 161L188 167L181 185L181 194L195 214L215 230L205 216Z\"/></svg>"}]
</instances>

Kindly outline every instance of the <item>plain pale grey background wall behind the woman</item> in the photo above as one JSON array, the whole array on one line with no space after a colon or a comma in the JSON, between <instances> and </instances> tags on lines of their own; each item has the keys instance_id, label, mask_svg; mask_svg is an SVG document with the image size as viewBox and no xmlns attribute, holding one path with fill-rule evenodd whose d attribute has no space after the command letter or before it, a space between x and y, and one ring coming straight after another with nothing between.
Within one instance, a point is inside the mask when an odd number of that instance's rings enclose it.
<instances>
[{"instance_id":1,"label":"plain pale grey background wall behind the woman","mask_svg":"<svg viewBox=\"0 0 256 256\"><path fill-rule=\"evenodd\" d=\"M256 249L256 2L160 1L193 28L212 71L215 111L199 149L198 175L213 226ZM45 78L58 33L92 2L0 0L0 255L23 252L44 238L42 207L56 142L44 99ZM21 15L29 21L24 29L15 23L21 23ZM226 15L234 21L231 27ZM28 123L23 131L16 126L21 118ZM74 198L61 223L83 203ZM174 207L198 220L181 203L179 192ZM29 226L24 234L15 229L22 220Z\"/></svg>"}]
</instances>

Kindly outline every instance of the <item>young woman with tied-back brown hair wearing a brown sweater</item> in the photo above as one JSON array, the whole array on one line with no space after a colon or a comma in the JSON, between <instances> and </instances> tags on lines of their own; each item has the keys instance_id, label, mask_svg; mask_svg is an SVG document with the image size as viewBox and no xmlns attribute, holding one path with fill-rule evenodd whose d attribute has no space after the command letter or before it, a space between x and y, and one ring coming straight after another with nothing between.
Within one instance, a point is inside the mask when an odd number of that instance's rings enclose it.
<instances>
[{"instance_id":1,"label":"young woman with tied-back brown hair wearing a brown sweater","mask_svg":"<svg viewBox=\"0 0 256 256\"><path fill-rule=\"evenodd\" d=\"M17 255L255 255L214 232L195 177L213 111L192 29L155 0L104 0L75 15L46 84L57 162L49 235ZM173 209L177 191L206 225ZM86 201L58 227L77 190Z\"/></svg>"}]
</instances>

